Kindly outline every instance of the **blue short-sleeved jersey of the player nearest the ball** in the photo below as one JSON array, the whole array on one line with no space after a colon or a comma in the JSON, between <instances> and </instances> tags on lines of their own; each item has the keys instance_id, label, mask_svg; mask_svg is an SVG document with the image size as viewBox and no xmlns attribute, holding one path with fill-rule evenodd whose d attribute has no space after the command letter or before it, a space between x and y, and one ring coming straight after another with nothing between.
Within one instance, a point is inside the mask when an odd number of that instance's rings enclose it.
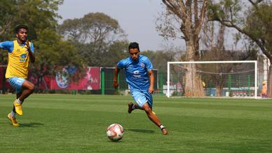
<instances>
[{"instance_id":1,"label":"blue short-sleeved jersey of the player nearest the ball","mask_svg":"<svg viewBox=\"0 0 272 153\"><path fill-rule=\"evenodd\" d=\"M125 69L125 79L130 86L130 91L134 89L148 91L149 89L149 70L153 66L147 56L139 55L137 61L131 57L120 60L117 63L119 69Z\"/></svg>"}]
</instances>

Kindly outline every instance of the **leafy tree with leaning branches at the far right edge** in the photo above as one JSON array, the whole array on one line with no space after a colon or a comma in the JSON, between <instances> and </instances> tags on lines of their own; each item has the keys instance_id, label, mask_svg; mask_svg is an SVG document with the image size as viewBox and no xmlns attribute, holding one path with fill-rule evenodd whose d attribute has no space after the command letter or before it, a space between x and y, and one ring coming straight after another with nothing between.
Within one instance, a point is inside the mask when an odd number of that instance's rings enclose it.
<instances>
[{"instance_id":1,"label":"leafy tree with leaning branches at the far right edge","mask_svg":"<svg viewBox=\"0 0 272 153\"><path fill-rule=\"evenodd\" d=\"M210 20L233 27L253 41L272 62L272 3L265 0L247 0L245 10L241 1L219 1L210 6ZM245 16L241 15L245 13ZM272 97L272 65L268 72L268 95Z\"/></svg>"}]
</instances>

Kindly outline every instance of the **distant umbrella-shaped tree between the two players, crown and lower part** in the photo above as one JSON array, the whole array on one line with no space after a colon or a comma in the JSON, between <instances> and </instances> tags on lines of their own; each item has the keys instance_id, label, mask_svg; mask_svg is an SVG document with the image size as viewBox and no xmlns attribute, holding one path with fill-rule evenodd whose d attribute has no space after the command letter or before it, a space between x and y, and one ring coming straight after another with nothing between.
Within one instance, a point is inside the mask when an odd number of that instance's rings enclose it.
<instances>
[{"instance_id":1,"label":"distant umbrella-shaped tree between the two players, crown and lower part","mask_svg":"<svg viewBox=\"0 0 272 153\"><path fill-rule=\"evenodd\" d=\"M125 36L118 21L104 13L88 13L83 18L64 20L58 29L60 34L74 42L88 66L106 65L105 55L111 45Z\"/></svg>"}]
</instances>

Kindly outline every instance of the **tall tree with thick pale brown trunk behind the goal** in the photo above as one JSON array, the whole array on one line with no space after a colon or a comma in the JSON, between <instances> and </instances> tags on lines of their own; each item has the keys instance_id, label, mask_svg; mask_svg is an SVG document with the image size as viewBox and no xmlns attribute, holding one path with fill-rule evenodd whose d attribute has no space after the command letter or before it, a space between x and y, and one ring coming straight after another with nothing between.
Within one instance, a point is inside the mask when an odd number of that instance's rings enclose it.
<instances>
[{"instance_id":1,"label":"tall tree with thick pale brown trunk behind the goal","mask_svg":"<svg viewBox=\"0 0 272 153\"><path fill-rule=\"evenodd\" d=\"M177 37L175 25L182 32L186 44L186 61L199 59L199 34L208 8L208 0L163 0L166 6L165 20L158 29L165 37ZM175 19L175 23L170 20ZM191 77L191 75L195 77ZM201 77L196 73L196 65L187 67L186 96L203 96Z\"/></svg>"}]
</instances>

